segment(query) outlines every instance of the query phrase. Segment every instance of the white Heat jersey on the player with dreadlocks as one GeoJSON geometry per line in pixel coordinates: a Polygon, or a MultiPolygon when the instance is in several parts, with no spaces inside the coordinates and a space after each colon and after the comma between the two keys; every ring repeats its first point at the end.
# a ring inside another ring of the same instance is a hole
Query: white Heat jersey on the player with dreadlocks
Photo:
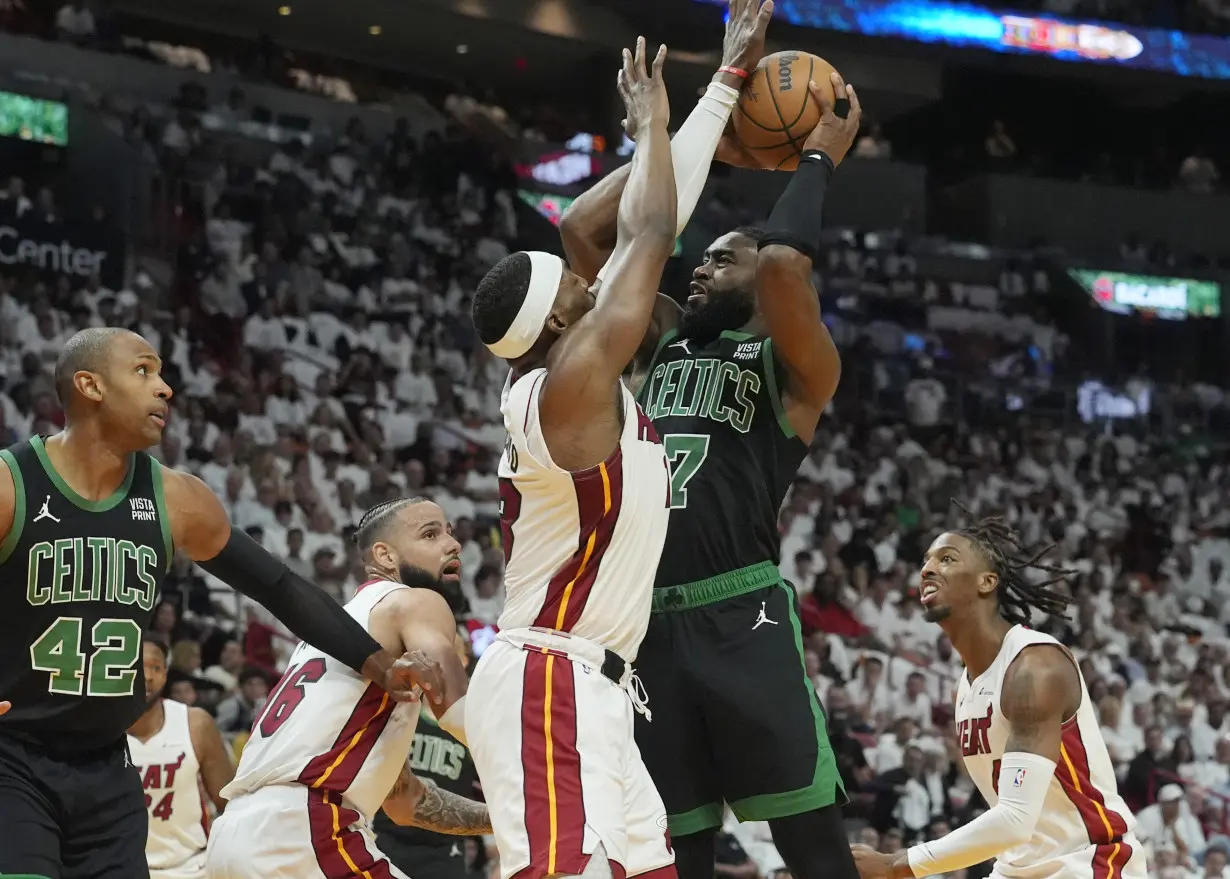
{"type": "MultiPolygon", "coordinates": [[[[990,668],[973,681],[963,674],[957,687],[957,740],[970,778],[990,805],[999,802],[999,766],[1010,733],[1000,709],[1004,675],[1031,644],[1060,647],[1048,634],[1016,626],[1004,638],[990,668]]],[[[1114,767],[1082,677],[1080,708],[1064,724],[1059,763],[1033,836],[1004,852],[993,875],[1143,877],[1145,858],[1130,836],[1134,827],[1135,818],[1119,797],[1114,767]]]]}

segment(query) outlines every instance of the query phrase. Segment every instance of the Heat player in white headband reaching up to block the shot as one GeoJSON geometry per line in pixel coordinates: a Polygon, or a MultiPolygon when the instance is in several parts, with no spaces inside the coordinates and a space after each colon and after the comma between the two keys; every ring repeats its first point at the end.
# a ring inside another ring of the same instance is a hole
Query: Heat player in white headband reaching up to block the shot
{"type": "MultiPolygon", "coordinates": [[[[464,741],[504,879],[674,877],[665,809],[632,738],[647,709],[631,669],[669,514],[667,460],[620,381],[675,242],[664,61],[665,47],[649,66],[643,38],[635,58],[624,52],[619,89],[640,138],[603,289],[535,252],[506,257],[474,296],[480,338],[510,366],[507,601],[464,741]]],[[[440,722],[451,731],[456,717],[440,722]]]]}

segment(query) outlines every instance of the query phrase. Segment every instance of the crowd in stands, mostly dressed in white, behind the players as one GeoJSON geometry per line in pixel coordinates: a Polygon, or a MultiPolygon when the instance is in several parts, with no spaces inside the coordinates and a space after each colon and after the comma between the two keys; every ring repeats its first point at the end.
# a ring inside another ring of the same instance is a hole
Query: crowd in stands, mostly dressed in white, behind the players
{"type": "MultiPolygon", "coordinates": [[[[64,9],[64,38],[96,27],[87,7],[64,9]]],[[[1213,0],[1198,9],[1221,15],[1213,0]]],[[[97,275],[74,288],[0,268],[0,440],[63,425],[49,370],[69,334],[132,327],[176,390],[159,459],[196,472],[239,526],[339,601],[365,579],[351,540],[365,509],[407,494],[440,504],[464,547],[462,629],[481,652],[503,604],[506,370],[469,311],[525,221],[508,168],[459,129],[419,141],[358,122],[333,143],[226,152],[199,109],[242,116],[242,95],[164,109],[117,119],[191,183],[200,221],[184,221],[176,280],[137,272],[125,289],[97,275]]],[[[881,132],[868,140],[857,155],[888,155],[881,132]]],[[[50,191],[9,181],[0,218],[27,210],[54,213],[50,191]]],[[[824,311],[854,357],[781,513],[781,567],[854,832],[893,851],[985,808],[956,749],[959,661],[915,600],[924,548],[963,515],[956,498],[1002,511],[1027,543],[1054,543],[1050,561],[1074,572],[1069,616],[1034,625],[1080,659],[1151,875],[1230,877],[1230,456],[1202,433],[1223,392],[1137,376],[1125,395],[1168,397],[1172,417],[1143,406],[1108,422],[1075,400],[1041,417],[1028,401],[1053,388],[1070,347],[1044,267],[1007,262],[984,284],[957,283],[910,247],[831,234],[824,311]],[[937,369],[975,364],[982,385],[937,369]]],[[[214,712],[241,749],[293,648],[287,632],[182,554],[153,631],[171,648],[170,697],[214,712]]],[[[722,877],[784,870],[766,825],[727,831],[722,877]]]]}

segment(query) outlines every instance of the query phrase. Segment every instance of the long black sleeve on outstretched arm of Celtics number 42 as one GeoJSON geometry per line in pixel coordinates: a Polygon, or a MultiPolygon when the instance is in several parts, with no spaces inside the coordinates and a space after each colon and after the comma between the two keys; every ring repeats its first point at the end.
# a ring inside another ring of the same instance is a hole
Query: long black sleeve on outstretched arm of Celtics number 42
{"type": "Polygon", "coordinates": [[[299,577],[235,526],[223,551],[199,564],[260,601],[296,637],[359,674],[368,658],[381,650],[375,638],[323,589],[299,577]]]}

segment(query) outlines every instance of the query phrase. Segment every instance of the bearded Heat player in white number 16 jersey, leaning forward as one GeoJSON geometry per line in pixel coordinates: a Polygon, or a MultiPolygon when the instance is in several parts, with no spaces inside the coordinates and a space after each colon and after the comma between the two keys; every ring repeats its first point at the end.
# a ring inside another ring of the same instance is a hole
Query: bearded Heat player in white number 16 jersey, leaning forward
{"type": "MultiPolygon", "coordinates": [[[[380,504],[359,521],[355,542],[370,579],[344,612],[385,650],[435,658],[446,713],[467,681],[445,599],[459,584],[461,546],[444,511],[426,498],[380,504]]],[[[371,819],[381,806],[399,824],[490,834],[485,805],[410,771],[418,711],[300,644],[223,790],[207,877],[406,879],[376,846],[371,819]]]]}

